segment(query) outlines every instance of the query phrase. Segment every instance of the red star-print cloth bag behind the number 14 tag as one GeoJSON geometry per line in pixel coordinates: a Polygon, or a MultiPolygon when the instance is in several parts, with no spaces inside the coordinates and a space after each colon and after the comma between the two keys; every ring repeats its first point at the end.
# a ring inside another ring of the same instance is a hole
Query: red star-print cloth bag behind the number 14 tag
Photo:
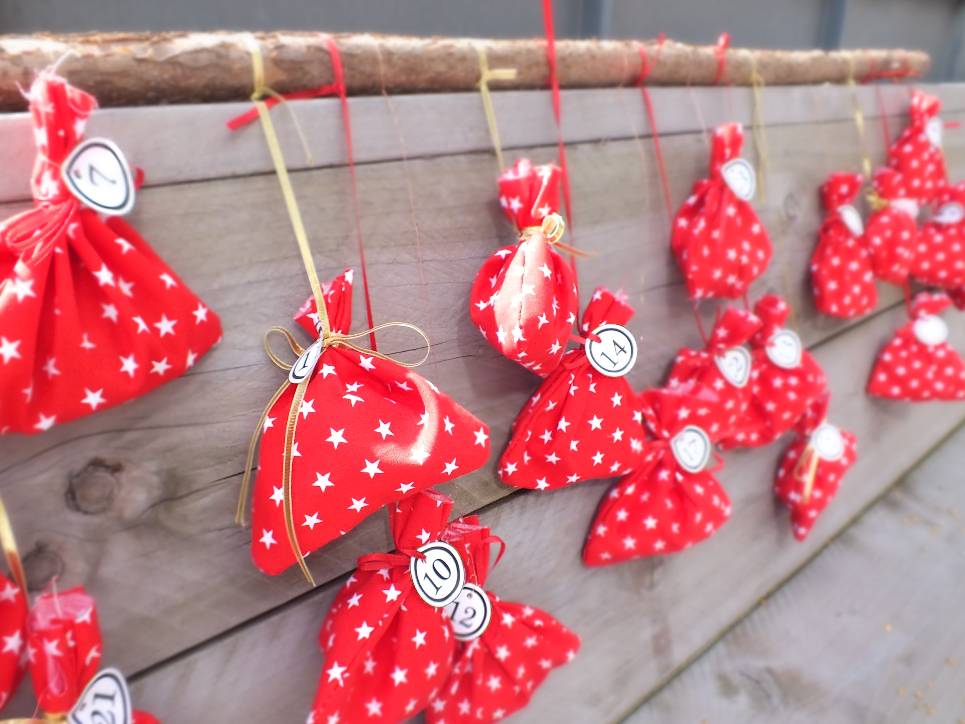
{"type": "MultiPolygon", "coordinates": [[[[632,316],[622,298],[598,287],[583,313],[582,329],[593,335],[632,316]]],[[[603,375],[586,348],[570,349],[513,423],[499,477],[510,486],[545,490],[625,475],[643,462],[646,447],[626,377],[603,375]]]]}

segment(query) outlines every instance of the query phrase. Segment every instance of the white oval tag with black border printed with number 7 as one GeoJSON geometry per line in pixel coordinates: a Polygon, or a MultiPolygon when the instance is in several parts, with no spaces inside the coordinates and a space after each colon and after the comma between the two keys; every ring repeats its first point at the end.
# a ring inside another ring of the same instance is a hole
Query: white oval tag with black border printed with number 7
{"type": "Polygon", "coordinates": [[[70,193],[91,209],[123,216],[134,208],[134,179],[124,153],[113,141],[91,138],[70,152],[61,164],[70,193]]]}

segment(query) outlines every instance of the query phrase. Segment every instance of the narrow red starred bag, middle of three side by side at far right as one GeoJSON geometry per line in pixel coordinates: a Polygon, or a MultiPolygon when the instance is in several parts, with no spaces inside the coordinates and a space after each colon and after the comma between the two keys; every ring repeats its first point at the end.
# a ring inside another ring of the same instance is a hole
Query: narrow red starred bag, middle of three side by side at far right
{"type": "Polygon", "coordinates": [[[902,285],[915,258],[918,202],[908,180],[894,169],[875,169],[871,184],[882,205],[871,212],[865,226],[871,270],[883,282],[902,285]]]}

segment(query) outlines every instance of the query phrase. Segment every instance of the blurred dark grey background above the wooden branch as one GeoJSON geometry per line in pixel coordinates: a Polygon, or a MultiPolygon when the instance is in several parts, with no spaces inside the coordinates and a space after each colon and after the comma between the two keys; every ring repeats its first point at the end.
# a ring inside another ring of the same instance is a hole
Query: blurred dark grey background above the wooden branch
{"type": "MultiPolygon", "coordinates": [[[[554,0],[561,38],[655,38],[769,48],[907,47],[929,78],[965,78],[965,0],[554,0]]],[[[540,0],[0,0],[0,33],[327,30],[541,36],[540,0]]]]}

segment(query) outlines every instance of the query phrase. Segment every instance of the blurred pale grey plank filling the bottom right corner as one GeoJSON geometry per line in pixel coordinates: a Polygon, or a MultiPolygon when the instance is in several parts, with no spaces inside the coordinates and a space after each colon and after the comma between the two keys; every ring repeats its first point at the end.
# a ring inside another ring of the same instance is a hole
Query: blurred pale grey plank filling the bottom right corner
{"type": "Polygon", "coordinates": [[[626,719],[957,721],[965,429],[626,719]]]}

